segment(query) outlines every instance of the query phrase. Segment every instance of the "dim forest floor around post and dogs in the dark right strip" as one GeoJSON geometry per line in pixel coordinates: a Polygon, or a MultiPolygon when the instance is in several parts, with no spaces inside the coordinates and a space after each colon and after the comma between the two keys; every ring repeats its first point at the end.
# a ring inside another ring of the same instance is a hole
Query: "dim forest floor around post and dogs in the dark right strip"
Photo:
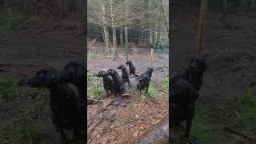
{"type": "MultiPolygon", "coordinates": [[[[171,76],[190,62],[198,36],[198,15],[177,12],[172,18],[171,76]]],[[[213,12],[206,17],[202,56],[209,69],[198,98],[191,141],[255,143],[256,87],[249,84],[256,79],[256,15],[228,14],[226,22],[220,18],[213,12]]],[[[172,143],[185,143],[178,139],[182,134],[181,129],[172,128],[172,143]]]]}

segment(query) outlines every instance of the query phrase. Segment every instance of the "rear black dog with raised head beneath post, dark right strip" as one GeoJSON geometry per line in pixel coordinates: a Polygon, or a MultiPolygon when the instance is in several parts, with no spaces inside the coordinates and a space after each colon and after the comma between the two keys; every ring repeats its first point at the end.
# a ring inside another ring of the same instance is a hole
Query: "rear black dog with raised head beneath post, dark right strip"
{"type": "Polygon", "coordinates": [[[174,83],[179,78],[185,79],[190,82],[197,90],[200,90],[202,86],[203,74],[207,69],[206,61],[202,58],[193,58],[190,62],[190,67],[186,69],[182,74],[170,79],[170,86],[174,86],[174,83]]]}

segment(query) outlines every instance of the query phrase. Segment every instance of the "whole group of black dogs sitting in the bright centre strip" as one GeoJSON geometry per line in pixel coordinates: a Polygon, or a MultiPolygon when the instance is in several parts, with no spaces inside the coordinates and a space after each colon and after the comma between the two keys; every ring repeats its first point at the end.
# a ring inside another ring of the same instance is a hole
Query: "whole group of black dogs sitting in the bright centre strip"
{"type": "Polygon", "coordinates": [[[150,78],[153,73],[153,68],[147,68],[146,72],[138,75],[135,74],[135,66],[131,61],[127,61],[126,65],[122,64],[117,67],[118,70],[122,70],[122,76],[120,76],[114,68],[111,68],[107,71],[99,71],[96,76],[103,78],[104,89],[106,90],[106,94],[109,94],[110,90],[114,95],[117,96],[119,94],[119,98],[121,98],[122,93],[125,91],[125,84],[128,83],[130,86],[129,75],[134,75],[137,81],[137,89],[142,93],[142,90],[146,89],[146,93],[150,86],[150,78]],[[129,72],[126,69],[126,65],[129,66],[129,72]]]}

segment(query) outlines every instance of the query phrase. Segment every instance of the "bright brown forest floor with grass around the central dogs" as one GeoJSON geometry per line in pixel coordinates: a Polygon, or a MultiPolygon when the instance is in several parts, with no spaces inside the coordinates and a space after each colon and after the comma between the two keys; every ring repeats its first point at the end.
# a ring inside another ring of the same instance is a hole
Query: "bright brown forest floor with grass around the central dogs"
{"type": "MultiPolygon", "coordinates": [[[[94,51],[94,50],[92,50],[94,51]]],[[[89,53],[87,74],[87,96],[97,102],[87,106],[87,141],[88,143],[130,143],[143,134],[150,126],[158,123],[169,113],[169,56],[154,54],[154,72],[148,94],[136,90],[135,78],[126,84],[125,98],[127,105],[111,105],[117,98],[109,97],[103,89],[102,78],[94,77],[98,71],[107,71],[125,63],[125,51],[118,52],[118,60],[110,55],[89,53]]],[[[142,74],[150,66],[150,50],[141,50],[129,54],[136,73],[142,74]]],[[[126,67],[128,69],[128,67],[126,67]]],[[[117,69],[116,69],[117,70],[117,69]]],[[[122,71],[118,70],[119,75],[122,71]]]]}

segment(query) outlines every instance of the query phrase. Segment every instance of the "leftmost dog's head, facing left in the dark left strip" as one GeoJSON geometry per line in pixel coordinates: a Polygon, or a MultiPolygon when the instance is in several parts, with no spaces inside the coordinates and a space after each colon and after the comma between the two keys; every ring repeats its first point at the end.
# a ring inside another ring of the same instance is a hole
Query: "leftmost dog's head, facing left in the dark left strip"
{"type": "Polygon", "coordinates": [[[27,84],[30,87],[48,87],[58,82],[58,71],[52,68],[42,69],[34,78],[30,78],[27,84]]]}

